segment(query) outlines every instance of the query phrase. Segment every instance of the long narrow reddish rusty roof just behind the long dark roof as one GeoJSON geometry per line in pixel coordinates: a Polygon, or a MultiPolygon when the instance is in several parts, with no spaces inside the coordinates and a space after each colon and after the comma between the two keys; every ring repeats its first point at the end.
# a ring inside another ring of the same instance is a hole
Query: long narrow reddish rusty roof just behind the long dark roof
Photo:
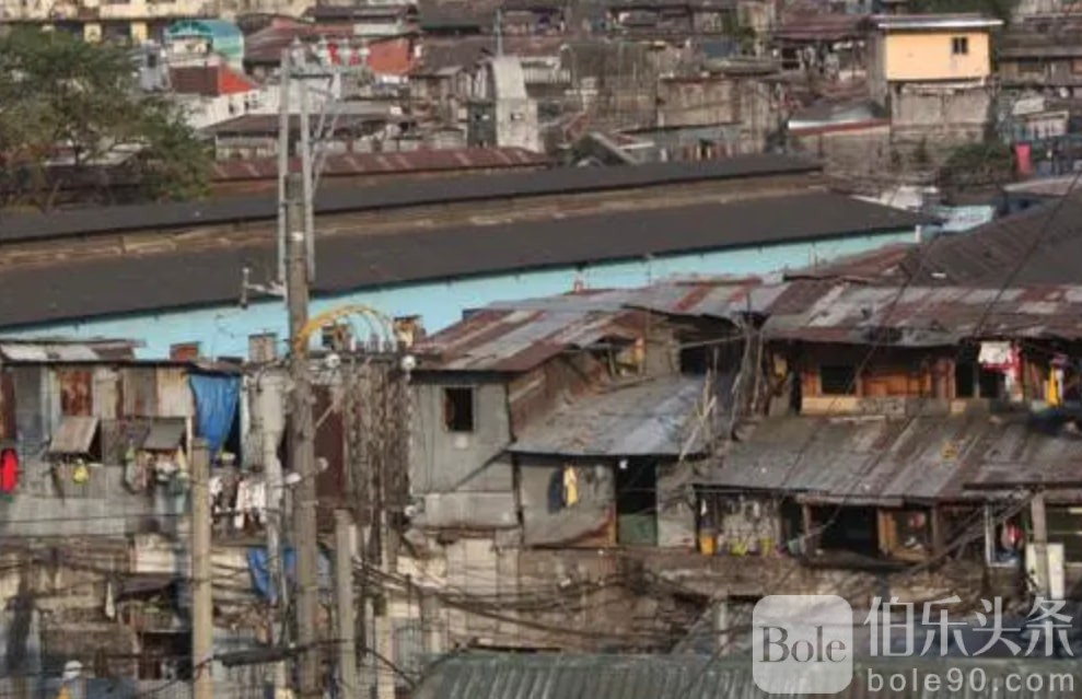
{"type": "MultiPolygon", "coordinates": [[[[395,175],[455,170],[540,167],[550,162],[547,156],[523,148],[462,148],[328,155],[322,172],[328,177],[395,175]]],[[[300,160],[293,159],[290,166],[294,171],[300,171],[300,160]]],[[[211,177],[216,182],[277,179],[278,159],[219,161],[211,170],[211,177]]]]}

